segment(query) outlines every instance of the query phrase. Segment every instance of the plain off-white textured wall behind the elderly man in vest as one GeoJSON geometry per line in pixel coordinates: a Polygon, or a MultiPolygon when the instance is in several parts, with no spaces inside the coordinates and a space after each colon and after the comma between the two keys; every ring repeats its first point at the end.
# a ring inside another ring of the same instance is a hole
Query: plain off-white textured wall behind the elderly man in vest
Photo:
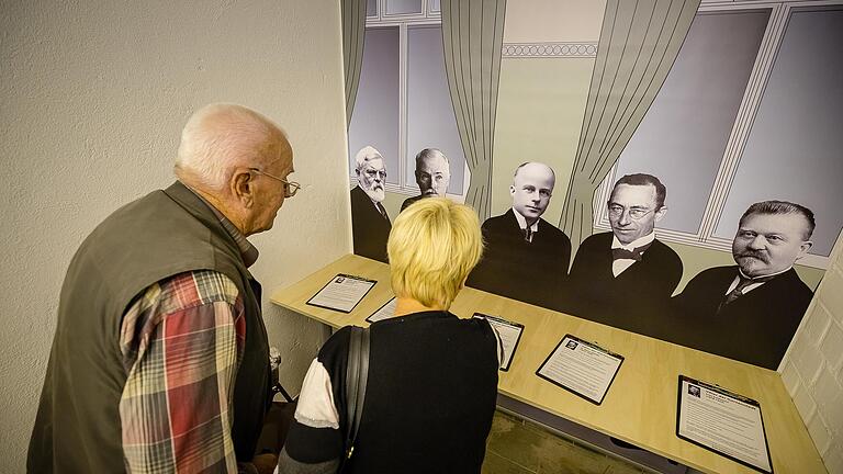
{"type": "Polygon", "coordinates": [[[0,0],[0,473],[23,472],[70,257],[172,181],[179,132],[209,102],[281,124],[311,184],[252,238],[297,392],[323,332],[267,297],[350,249],[338,2],[0,0]]]}

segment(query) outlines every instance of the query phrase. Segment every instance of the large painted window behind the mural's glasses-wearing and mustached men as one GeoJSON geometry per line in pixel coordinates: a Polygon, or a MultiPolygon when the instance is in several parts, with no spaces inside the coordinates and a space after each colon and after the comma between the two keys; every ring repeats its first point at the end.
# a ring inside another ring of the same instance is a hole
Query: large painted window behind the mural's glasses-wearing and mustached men
{"type": "Polygon", "coordinates": [[[609,228],[615,181],[648,172],[667,188],[663,240],[728,250],[750,204],[793,201],[817,217],[811,255],[800,263],[824,268],[843,226],[840,50],[843,5],[704,3],[596,193],[595,225],[609,228]]]}

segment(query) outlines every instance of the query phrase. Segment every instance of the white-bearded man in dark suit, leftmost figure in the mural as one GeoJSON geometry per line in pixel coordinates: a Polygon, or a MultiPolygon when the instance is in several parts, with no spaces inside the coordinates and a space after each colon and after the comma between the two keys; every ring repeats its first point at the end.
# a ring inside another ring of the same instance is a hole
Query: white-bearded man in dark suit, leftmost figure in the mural
{"type": "Polygon", "coordinates": [[[355,156],[358,185],[351,190],[351,230],[355,253],[386,262],[390,216],[383,207],[386,163],[380,151],[364,146],[355,156]]]}

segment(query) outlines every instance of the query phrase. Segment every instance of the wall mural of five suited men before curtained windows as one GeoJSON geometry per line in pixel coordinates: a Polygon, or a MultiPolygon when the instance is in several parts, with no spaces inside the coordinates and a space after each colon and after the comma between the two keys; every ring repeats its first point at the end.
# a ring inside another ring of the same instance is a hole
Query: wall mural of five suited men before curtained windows
{"type": "Polygon", "coordinates": [[[454,3],[344,18],[355,252],[448,196],[468,286],[776,369],[843,226],[843,0],[454,3]]]}

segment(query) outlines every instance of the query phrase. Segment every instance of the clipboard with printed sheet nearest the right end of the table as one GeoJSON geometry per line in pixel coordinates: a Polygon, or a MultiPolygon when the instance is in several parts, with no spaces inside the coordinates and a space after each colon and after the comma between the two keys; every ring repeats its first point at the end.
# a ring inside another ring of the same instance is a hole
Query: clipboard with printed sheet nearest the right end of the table
{"type": "Polygon", "coordinates": [[[679,375],[676,436],[745,466],[773,473],[761,405],[679,375]]]}

